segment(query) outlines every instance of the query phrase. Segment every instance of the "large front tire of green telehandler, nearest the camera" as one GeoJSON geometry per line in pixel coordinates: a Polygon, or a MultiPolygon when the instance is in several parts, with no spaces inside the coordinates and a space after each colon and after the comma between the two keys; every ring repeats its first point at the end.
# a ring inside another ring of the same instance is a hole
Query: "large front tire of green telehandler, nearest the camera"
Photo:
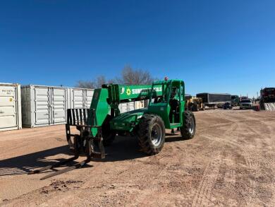
{"type": "Polygon", "coordinates": [[[165,126],[161,117],[145,114],[139,124],[138,143],[147,155],[155,155],[161,151],[165,142],[165,126]]]}

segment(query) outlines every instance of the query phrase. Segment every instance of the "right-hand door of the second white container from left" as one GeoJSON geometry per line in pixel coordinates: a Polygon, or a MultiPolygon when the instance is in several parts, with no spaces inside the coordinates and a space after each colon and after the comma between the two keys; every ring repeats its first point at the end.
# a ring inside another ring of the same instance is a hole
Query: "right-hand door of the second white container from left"
{"type": "Polygon", "coordinates": [[[52,89],[52,114],[53,124],[66,122],[66,88],[53,88],[52,89]]]}

